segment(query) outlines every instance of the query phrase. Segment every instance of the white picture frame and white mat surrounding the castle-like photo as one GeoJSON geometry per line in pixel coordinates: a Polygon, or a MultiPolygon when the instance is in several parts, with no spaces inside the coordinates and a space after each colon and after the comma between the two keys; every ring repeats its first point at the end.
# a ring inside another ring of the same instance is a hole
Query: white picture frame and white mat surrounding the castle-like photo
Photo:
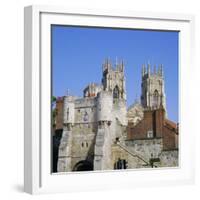
{"type": "Polygon", "coordinates": [[[191,15],[56,6],[25,8],[24,190],[31,194],[185,184],[194,181],[194,134],[189,94],[194,54],[191,15]],[[123,172],[51,173],[50,25],[176,30],[179,38],[180,167],[123,172]],[[190,67],[189,67],[190,66],[190,67]],[[187,93],[187,95],[186,95],[187,93]],[[189,134],[188,134],[189,133],[189,134]]]}

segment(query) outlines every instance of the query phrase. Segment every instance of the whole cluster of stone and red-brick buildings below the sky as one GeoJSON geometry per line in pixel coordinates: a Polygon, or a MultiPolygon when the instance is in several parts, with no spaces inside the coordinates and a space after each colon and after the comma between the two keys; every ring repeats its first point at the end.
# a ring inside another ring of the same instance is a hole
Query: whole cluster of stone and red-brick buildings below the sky
{"type": "MultiPolygon", "coordinates": [[[[166,119],[163,67],[142,67],[141,103],[126,107],[123,61],[106,59],[102,83],[57,99],[62,130],[54,172],[178,166],[178,128],[166,119]]],[[[56,135],[56,131],[55,131],[56,135]]]]}

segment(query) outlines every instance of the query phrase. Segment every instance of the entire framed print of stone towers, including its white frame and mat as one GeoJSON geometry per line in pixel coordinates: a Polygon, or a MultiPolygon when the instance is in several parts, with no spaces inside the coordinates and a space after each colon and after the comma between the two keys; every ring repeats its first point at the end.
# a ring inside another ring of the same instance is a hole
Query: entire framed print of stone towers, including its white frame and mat
{"type": "Polygon", "coordinates": [[[193,23],[25,8],[26,192],[193,182],[193,23]]]}

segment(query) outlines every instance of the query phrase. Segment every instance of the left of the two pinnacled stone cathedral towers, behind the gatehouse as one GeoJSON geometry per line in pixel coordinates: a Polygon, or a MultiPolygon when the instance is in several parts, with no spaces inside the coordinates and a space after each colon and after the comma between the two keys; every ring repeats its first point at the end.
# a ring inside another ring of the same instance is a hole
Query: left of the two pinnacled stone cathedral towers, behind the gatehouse
{"type": "Polygon", "coordinates": [[[115,68],[112,67],[110,60],[106,59],[103,64],[103,90],[113,93],[113,99],[126,100],[124,63],[117,62],[115,68]]]}

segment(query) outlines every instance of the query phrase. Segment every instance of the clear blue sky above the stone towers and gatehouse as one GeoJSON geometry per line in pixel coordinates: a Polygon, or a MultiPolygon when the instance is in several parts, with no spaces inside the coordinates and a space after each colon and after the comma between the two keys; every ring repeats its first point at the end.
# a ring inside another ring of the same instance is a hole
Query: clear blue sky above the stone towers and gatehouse
{"type": "Polygon", "coordinates": [[[168,118],[178,122],[178,32],[52,26],[53,95],[101,83],[107,57],[125,62],[127,106],[141,95],[142,64],[163,64],[168,118]]]}

